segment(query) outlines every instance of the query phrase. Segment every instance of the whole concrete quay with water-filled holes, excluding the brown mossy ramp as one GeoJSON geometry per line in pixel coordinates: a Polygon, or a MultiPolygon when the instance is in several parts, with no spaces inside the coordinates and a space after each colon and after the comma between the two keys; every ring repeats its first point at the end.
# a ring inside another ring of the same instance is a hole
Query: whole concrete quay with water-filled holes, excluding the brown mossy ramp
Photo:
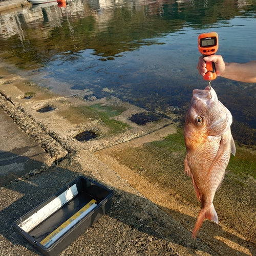
{"type": "Polygon", "coordinates": [[[136,138],[146,134],[174,132],[172,120],[161,118],[137,125],[129,116],[142,110],[133,105],[101,99],[93,103],[93,109],[92,102],[53,95],[3,66],[0,73],[1,255],[40,255],[12,224],[80,175],[114,190],[112,208],[61,255],[217,255],[202,241],[191,239],[191,232],[181,223],[92,154],[124,141],[134,139],[136,143],[136,138]],[[34,91],[35,96],[24,99],[28,91],[34,91]],[[126,121],[127,125],[114,133],[112,119],[98,114],[102,112],[99,104],[107,104],[106,112],[115,116],[117,102],[123,105],[119,115],[112,117],[116,118],[114,124],[126,121]],[[56,108],[46,113],[36,111],[46,105],[56,108]],[[93,110],[87,114],[97,113],[101,119],[93,119],[91,114],[90,119],[81,119],[81,108],[93,110]],[[95,130],[97,126],[98,140],[79,142],[74,138],[79,130],[95,130]]]}

